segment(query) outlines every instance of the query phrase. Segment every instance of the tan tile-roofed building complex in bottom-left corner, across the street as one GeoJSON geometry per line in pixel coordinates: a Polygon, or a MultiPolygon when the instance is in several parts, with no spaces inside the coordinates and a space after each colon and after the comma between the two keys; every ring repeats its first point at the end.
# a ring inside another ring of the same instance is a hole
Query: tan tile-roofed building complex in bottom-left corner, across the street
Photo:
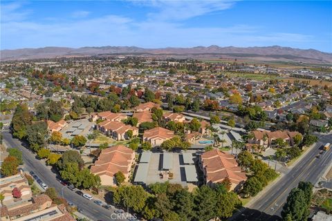
{"type": "Polygon", "coordinates": [[[53,204],[46,194],[32,195],[28,181],[23,173],[3,177],[0,179],[1,194],[4,195],[0,207],[1,221],[74,221],[75,219],[66,211],[64,204],[53,204]],[[20,198],[14,198],[13,189],[21,192],[20,198]],[[51,214],[51,215],[50,215],[51,214]]]}

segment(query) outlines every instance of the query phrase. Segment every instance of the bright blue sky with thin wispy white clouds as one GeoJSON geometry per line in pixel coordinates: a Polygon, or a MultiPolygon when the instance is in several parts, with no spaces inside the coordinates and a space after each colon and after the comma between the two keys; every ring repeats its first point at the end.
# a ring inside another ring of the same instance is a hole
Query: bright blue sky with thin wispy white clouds
{"type": "Polygon", "coordinates": [[[332,52],[332,1],[1,1],[1,49],[210,45],[332,52]]]}

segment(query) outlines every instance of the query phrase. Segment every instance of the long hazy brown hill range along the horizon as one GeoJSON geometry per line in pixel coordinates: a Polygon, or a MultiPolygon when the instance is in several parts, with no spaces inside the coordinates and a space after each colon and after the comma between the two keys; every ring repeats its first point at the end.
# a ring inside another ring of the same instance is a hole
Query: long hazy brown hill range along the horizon
{"type": "Polygon", "coordinates": [[[222,57],[229,59],[253,59],[259,61],[304,61],[312,63],[332,63],[332,53],[314,49],[297,49],[281,46],[269,47],[219,47],[197,46],[194,48],[138,48],[127,46],[103,46],[84,48],[22,48],[1,50],[1,60],[41,59],[53,57],[84,57],[91,55],[167,55],[180,57],[222,57]]]}

